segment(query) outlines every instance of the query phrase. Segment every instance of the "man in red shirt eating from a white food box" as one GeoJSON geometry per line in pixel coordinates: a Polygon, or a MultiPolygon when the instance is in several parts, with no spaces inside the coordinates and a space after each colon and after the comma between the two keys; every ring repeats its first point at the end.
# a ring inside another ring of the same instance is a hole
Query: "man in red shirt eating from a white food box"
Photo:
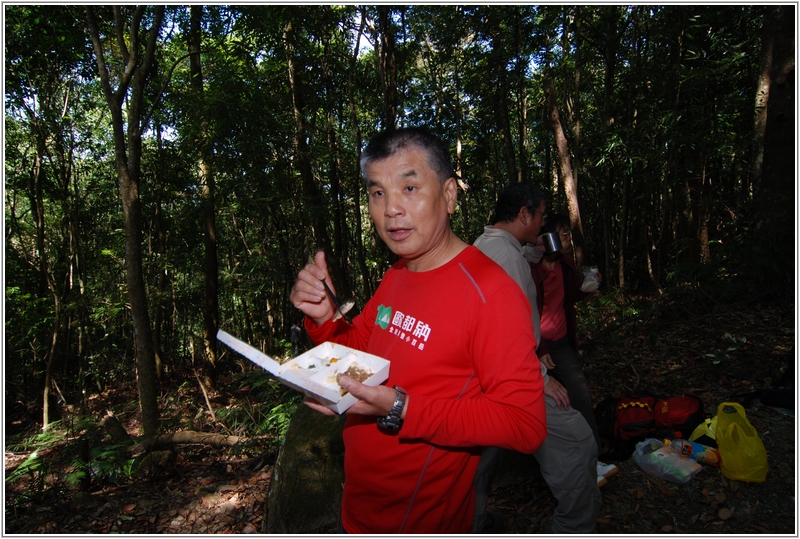
{"type": "Polygon", "coordinates": [[[343,434],[341,525],[348,533],[469,533],[481,446],[532,453],[546,435],[530,304],[450,228],[457,186],[441,140],[418,128],[381,133],[361,170],[375,229],[402,258],[352,324],[332,320],[322,252],[290,295],[315,343],[391,362],[386,385],[339,376],[360,399],[343,434]]]}

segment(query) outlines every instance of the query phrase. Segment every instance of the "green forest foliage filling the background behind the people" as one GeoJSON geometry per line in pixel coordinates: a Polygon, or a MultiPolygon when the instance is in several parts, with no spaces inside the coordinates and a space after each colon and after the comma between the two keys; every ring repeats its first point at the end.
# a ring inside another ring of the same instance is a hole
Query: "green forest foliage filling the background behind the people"
{"type": "MultiPolygon", "coordinates": [[[[542,105],[542,76],[552,74],[578,178],[584,257],[601,266],[609,291],[581,317],[587,331],[656,316],[624,295],[637,290],[723,300],[792,289],[791,253],[769,234],[748,244],[759,230],[753,205],[760,195],[750,179],[759,6],[387,11],[384,28],[375,6],[203,6],[200,94],[191,90],[186,57],[189,10],[166,9],[169,31],[144,103],[139,197],[150,322],[170,372],[191,370],[202,342],[206,198],[197,163],[205,134],[216,188],[220,327],[288,355],[289,328],[302,320],[288,296],[305,254],[320,246],[341,266],[337,288],[359,305],[368,299],[393,259],[370,226],[357,157],[386,127],[382,81],[392,66],[396,124],[439,134],[469,186],[452,217],[468,242],[512,179],[537,183],[549,208],[565,210],[542,105]],[[393,58],[383,56],[384,43],[393,44],[393,58]],[[620,261],[625,289],[617,294],[620,261]]],[[[97,13],[101,22],[113,19],[111,8],[97,13]]],[[[131,8],[120,13],[127,18],[131,8]]],[[[84,391],[134,380],[125,216],[85,15],[84,6],[6,7],[6,392],[13,402],[42,394],[54,335],[53,374],[70,404],[84,391]]],[[[229,432],[279,436],[297,395],[246,378],[242,387],[258,396],[215,413],[229,432]]],[[[168,424],[191,420],[175,414],[168,424]]]]}

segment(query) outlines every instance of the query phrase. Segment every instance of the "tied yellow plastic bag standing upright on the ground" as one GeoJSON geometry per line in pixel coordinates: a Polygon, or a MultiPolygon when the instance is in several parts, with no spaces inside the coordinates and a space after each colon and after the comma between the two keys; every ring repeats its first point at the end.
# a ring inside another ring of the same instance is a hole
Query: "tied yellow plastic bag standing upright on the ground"
{"type": "Polygon", "coordinates": [[[767,479],[767,450],[741,404],[719,405],[715,431],[725,477],[755,483],[767,479]]]}

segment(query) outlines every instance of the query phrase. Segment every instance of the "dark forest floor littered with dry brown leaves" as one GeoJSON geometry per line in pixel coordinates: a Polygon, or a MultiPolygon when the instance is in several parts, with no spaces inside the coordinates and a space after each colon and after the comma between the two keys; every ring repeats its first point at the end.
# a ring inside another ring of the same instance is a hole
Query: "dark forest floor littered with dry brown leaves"
{"type": "MultiPolygon", "coordinates": [[[[647,305],[646,298],[641,305],[647,305]]],[[[582,337],[595,403],[620,393],[694,394],[712,416],[721,402],[741,401],[742,395],[772,387],[786,371],[795,342],[793,304],[720,305],[709,300],[624,312],[589,309],[581,315],[606,318],[598,319],[582,337]]],[[[135,387],[104,395],[94,404],[96,410],[113,406],[111,399],[135,405],[135,387]]],[[[632,459],[615,461],[620,471],[601,489],[598,533],[796,534],[794,414],[757,404],[751,403],[746,412],[767,449],[766,482],[731,481],[719,468],[704,466],[691,481],[677,484],[646,474],[632,459]]],[[[136,413],[132,411],[124,424],[135,435],[136,413]]],[[[58,462],[63,449],[55,446],[45,458],[58,462]]],[[[176,450],[174,462],[161,473],[118,484],[103,482],[90,492],[78,492],[61,481],[50,485],[57,488],[28,499],[21,494],[33,489],[32,477],[6,482],[4,532],[262,532],[274,451],[242,454],[203,445],[176,450]]],[[[6,452],[6,476],[26,457],[25,452],[6,452]]],[[[488,509],[501,517],[498,533],[533,534],[547,533],[555,506],[541,476],[533,474],[495,486],[488,509]]]]}

